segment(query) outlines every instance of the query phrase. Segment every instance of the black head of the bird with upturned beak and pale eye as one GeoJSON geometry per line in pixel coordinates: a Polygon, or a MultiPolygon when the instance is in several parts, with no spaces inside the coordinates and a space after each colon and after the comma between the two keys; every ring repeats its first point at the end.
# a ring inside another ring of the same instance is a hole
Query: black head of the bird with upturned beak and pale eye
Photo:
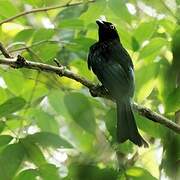
{"type": "Polygon", "coordinates": [[[96,20],[96,23],[99,26],[99,41],[103,42],[103,41],[108,41],[108,40],[119,40],[119,35],[118,32],[116,30],[116,27],[107,21],[103,21],[103,20],[96,20]]]}

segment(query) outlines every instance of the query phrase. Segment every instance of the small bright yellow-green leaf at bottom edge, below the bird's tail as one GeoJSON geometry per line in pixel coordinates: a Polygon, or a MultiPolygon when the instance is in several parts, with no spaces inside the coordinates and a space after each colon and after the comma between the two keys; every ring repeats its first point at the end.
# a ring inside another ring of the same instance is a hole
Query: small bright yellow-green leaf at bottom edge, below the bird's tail
{"type": "Polygon", "coordinates": [[[140,167],[131,167],[126,170],[126,174],[133,180],[157,180],[147,170],[140,167]]]}

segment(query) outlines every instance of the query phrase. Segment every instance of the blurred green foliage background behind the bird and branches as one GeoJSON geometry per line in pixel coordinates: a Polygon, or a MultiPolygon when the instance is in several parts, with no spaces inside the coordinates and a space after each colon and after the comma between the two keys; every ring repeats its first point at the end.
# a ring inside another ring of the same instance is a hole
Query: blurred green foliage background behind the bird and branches
{"type": "MultiPolygon", "coordinates": [[[[56,58],[98,83],[86,61],[100,15],[116,25],[133,59],[134,100],[180,123],[179,0],[0,0],[0,41],[13,56],[52,65],[56,58]],[[64,7],[1,24],[56,5],[64,7]]],[[[180,136],[135,116],[149,148],[117,144],[113,102],[91,97],[81,84],[1,65],[0,179],[180,179],[180,136]]]]}

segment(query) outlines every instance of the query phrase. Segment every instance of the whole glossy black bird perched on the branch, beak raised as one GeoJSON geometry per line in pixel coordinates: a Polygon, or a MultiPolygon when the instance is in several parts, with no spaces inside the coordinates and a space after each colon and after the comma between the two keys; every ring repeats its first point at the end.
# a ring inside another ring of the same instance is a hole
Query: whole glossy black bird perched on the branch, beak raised
{"type": "Polygon", "coordinates": [[[123,48],[115,26],[97,20],[99,41],[90,47],[88,68],[117,104],[117,140],[123,143],[132,141],[138,146],[148,146],[139,134],[131,107],[134,94],[134,68],[131,57],[123,48]]]}

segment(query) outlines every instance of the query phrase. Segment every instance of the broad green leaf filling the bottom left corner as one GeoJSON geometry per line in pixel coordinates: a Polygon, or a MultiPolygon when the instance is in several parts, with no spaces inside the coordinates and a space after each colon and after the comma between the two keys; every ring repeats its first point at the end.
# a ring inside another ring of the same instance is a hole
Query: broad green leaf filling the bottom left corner
{"type": "Polygon", "coordinates": [[[0,154],[0,177],[10,180],[14,177],[25,155],[21,143],[8,145],[0,154]]]}

